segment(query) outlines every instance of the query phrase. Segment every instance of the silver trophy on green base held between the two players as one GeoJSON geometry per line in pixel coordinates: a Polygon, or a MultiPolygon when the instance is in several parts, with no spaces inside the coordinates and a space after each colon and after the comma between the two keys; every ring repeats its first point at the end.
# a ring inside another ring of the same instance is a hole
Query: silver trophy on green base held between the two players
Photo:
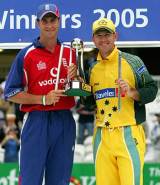
{"type": "Polygon", "coordinates": [[[76,63],[78,67],[78,76],[80,76],[80,78],[83,79],[83,82],[78,79],[75,79],[75,80],[67,79],[67,83],[65,86],[65,94],[68,96],[90,96],[92,89],[91,89],[91,86],[86,83],[85,74],[84,74],[83,41],[80,40],[79,38],[75,38],[71,42],[69,65],[71,65],[72,63],[73,48],[76,51],[76,63]],[[79,52],[80,52],[80,61],[79,61],[79,52]]]}

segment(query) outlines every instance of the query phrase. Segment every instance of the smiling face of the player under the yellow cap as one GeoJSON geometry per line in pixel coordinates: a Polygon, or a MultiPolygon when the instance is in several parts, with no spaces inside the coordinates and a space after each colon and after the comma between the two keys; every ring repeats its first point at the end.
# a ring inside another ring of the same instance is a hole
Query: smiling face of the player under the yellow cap
{"type": "Polygon", "coordinates": [[[99,49],[100,53],[107,55],[112,52],[116,39],[116,33],[108,33],[106,31],[100,31],[93,35],[95,46],[99,49]]]}

